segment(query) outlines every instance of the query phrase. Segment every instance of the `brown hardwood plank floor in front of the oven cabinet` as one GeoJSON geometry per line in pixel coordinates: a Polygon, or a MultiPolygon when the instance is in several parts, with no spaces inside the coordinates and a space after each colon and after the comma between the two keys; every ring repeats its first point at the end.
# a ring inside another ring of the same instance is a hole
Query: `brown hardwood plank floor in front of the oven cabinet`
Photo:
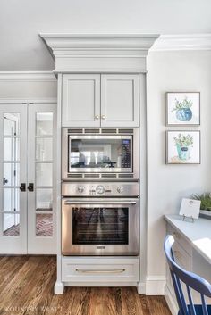
{"type": "Polygon", "coordinates": [[[55,257],[0,257],[0,315],[170,315],[163,296],[135,287],[68,287],[53,293],[55,257]]]}

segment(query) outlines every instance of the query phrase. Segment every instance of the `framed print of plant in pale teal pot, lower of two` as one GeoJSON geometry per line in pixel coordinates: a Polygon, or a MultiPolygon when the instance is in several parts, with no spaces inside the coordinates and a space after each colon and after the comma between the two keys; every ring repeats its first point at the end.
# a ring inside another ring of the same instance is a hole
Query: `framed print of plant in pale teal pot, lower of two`
{"type": "Polygon", "coordinates": [[[200,164],[200,131],[166,131],[167,164],[200,164]]]}

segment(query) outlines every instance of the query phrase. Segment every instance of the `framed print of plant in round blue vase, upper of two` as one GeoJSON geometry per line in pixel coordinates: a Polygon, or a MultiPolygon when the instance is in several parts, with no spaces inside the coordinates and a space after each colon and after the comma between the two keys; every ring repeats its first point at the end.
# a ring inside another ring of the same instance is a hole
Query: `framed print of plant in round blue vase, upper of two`
{"type": "Polygon", "coordinates": [[[165,93],[166,126],[200,125],[199,92],[165,93]]]}

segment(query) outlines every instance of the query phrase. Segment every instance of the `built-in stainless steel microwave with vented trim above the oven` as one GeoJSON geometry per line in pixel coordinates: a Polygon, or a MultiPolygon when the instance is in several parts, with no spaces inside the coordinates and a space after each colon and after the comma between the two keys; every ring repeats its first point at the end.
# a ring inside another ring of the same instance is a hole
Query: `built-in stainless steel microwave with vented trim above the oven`
{"type": "Polygon", "coordinates": [[[138,179],[139,129],[63,128],[62,178],[138,179]]]}

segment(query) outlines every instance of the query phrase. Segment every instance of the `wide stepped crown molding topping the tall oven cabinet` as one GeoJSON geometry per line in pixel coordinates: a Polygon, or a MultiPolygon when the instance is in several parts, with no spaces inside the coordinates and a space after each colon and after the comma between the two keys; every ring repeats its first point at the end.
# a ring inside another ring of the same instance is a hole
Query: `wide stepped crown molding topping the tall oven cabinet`
{"type": "Polygon", "coordinates": [[[55,72],[146,70],[158,35],[40,34],[55,57],[55,72]]]}

